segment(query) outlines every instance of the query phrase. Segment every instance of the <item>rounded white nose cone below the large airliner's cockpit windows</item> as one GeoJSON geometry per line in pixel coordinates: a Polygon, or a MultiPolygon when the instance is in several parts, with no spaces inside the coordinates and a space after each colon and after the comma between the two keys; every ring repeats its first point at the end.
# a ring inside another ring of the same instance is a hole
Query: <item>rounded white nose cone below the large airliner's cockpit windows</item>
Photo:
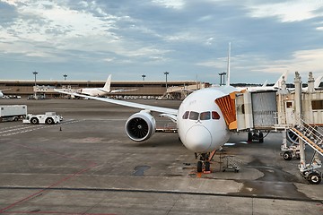
{"type": "Polygon", "coordinates": [[[203,125],[194,125],[188,129],[185,146],[194,152],[206,152],[212,143],[211,133],[203,125]]]}

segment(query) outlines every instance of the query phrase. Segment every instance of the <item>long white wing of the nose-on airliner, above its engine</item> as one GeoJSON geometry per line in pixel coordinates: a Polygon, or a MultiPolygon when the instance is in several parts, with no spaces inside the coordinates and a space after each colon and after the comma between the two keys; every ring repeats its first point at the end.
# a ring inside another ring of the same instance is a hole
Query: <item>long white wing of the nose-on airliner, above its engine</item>
{"type": "Polygon", "coordinates": [[[145,110],[151,110],[155,112],[160,112],[165,115],[163,116],[177,116],[178,114],[178,109],[172,109],[172,108],[167,108],[167,107],[156,107],[156,106],[150,106],[150,105],[144,105],[144,104],[139,104],[135,102],[129,102],[129,101],[124,101],[124,100],[115,100],[115,99],[108,99],[108,98],[100,98],[100,97],[92,97],[92,96],[86,96],[78,93],[73,93],[73,92],[67,92],[67,91],[62,91],[62,90],[56,90],[59,93],[71,95],[71,96],[77,96],[77,97],[83,97],[87,99],[93,99],[93,100],[100,100],[104,102],[109,102],[112,104],[116,105],[121,105],[121,106],[126,106],[126,107],[135,107],[139,109],[145,109],[145,110]]]}

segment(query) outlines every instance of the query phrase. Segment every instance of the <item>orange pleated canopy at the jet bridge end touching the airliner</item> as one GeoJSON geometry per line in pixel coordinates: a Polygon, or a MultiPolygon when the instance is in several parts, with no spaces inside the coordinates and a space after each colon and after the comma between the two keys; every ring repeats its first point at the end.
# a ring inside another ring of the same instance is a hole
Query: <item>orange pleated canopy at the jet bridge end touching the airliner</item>
{"type": "Polygon", "coordinates": [[[229,129],[237,129],[237,116],[235,110],[235,94],[231,92],[229,95],[219,99],[215,99],[215,103],[220,107],[225,123],[229,126],[229,129]]]}

